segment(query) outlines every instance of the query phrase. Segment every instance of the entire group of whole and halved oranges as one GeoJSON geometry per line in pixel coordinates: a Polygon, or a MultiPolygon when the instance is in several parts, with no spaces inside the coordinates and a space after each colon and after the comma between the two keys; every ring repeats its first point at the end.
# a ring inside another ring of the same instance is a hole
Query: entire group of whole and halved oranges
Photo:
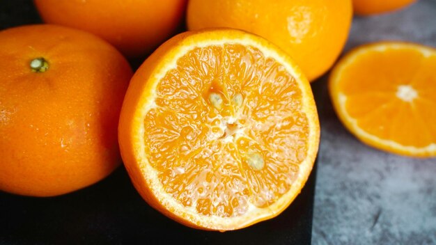
{"type": "MultiPolygon", "coordinates": [[[[412,1],[34,3],[49,24],[0,31],[0,189],[69,193],[121,155],[149,205],[224,231],[279,215],[304,187],[320,138],[309,81],[341,54],[352,6],[412,1]],[[125,57],[145,61],[133,74],[125,57]]],[[[356,49],[329,81],[338,116],[375,148],[435,156],[435,61],[420,45],[356,49]]]]}

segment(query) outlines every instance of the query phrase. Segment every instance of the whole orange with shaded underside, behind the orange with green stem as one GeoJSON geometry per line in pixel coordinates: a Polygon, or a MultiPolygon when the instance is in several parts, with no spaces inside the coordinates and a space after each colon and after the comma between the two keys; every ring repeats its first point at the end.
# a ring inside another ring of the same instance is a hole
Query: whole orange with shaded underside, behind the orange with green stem
{"type": "Polygon", "coordinates": [[[182,21],[186,0],[34,0],[47,23],[99,35],[126,56],[152,52],[182,21]]]}

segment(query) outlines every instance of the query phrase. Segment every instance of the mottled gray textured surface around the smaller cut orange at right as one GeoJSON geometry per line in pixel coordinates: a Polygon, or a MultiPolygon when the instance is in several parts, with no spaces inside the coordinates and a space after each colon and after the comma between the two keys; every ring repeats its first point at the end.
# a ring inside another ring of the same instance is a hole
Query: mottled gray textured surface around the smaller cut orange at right
{"type": "MultiPolygon", "coordinates": [[[[345,52],[377,40],[436,47],[436,1],[355,17],[345,52]]],[[[436,158],[400,157],[360,143],[336,118],[326,86],[327,76],[313,84],[322,141],[312,243],[436,244],[436,158]]]]}

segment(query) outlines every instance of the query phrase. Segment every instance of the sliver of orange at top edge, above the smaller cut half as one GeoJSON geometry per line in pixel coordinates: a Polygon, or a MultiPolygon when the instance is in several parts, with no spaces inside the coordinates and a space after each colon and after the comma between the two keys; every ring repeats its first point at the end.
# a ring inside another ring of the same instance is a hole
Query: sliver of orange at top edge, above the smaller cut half
{"type": "Polygon", "coordinates": [[[352,0],[358,15],[375,15],[404,8],[416,0],[352,0]]]}

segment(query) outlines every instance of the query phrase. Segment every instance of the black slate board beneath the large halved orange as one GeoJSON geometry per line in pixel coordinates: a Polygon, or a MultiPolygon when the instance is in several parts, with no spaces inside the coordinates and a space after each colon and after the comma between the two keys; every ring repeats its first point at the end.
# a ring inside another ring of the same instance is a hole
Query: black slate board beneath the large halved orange
{"type": "MultiPolygon", "coordinates": [[[[0,0],[0,30],[33,23],[40,19],[31,1],[0,0]]],[[[54,198],[0,192],[0,244],[311,244],[315,176],[314,169],[276,218],[221,233],[187,228],[153,210],[120,166],[98,184],[54,198]]]]}

